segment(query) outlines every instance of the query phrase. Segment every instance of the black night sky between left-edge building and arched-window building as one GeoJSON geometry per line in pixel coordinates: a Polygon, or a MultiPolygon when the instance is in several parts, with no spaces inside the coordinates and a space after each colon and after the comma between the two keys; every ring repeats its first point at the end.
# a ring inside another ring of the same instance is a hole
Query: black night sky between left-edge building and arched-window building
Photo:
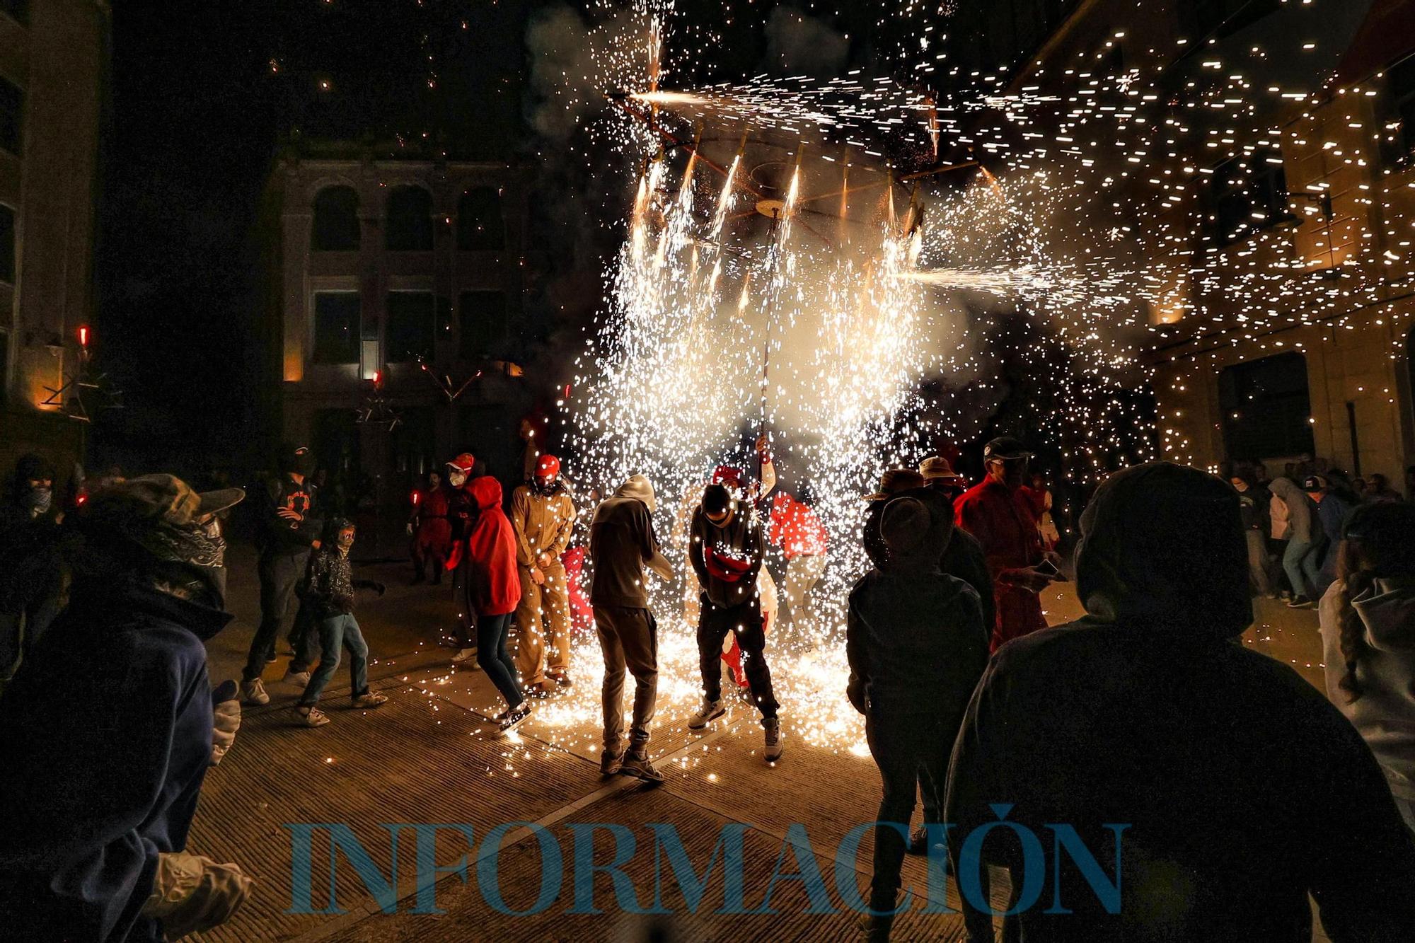
{"type": "Polygon", "coordinates": [[[127,409],[99,423],[96,457],[200,462],[243,438],[260,310],[253,225],[279,143],[427,132],[454,157],[512,157],[538,6],[115,4],[95,327],[127,409]]]}

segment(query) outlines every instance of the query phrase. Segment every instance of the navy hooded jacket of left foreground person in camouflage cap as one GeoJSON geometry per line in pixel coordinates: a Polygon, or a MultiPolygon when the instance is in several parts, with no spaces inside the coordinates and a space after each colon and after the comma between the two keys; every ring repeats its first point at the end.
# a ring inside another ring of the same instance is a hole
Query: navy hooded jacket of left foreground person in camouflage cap
{"type": "Polygon", "coordinates": [[[139,916],[211,763],[202,641],[231,616],[134,583],[75,589],[0,698],[0,926],[161,940],[139,916]]]}

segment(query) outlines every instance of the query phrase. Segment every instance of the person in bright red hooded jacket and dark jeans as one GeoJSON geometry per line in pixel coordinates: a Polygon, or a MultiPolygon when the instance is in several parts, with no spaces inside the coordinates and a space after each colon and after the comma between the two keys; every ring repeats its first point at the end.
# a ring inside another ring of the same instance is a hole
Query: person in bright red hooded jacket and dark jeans
{"type": "Polygon", "coordinates": [[[446,566],[456,569],[467,561],[467,598],[477,616],[477,664],[507,701],[507,711],[495,721],[509,732],[531,716],[531,704],[521,692],[516,668],[507,654],[507,629],[521,602],[516,534],[501,510],[501,481],[484,474],[468,481],[466,488],[477,508],[477,520],[467,538],[453,545],[446,566]]]}

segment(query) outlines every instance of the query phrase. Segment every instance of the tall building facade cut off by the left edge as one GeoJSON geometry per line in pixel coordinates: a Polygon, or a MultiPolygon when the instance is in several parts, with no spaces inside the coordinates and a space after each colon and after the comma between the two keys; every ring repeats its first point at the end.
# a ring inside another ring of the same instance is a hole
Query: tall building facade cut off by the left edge
{"type": "Polygon", "coordinates": [[[61,389],[93,310],[93,228],[109,7],[0,1],[0,464],[78,459],[61,389]]]}

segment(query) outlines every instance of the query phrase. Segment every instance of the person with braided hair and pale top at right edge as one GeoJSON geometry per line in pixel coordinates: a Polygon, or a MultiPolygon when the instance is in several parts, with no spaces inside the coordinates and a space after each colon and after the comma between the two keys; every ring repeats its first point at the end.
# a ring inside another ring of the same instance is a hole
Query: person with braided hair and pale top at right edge
{"type": "Polygon", "coordinates": [[[1367,504],[1341,531],[1322,598],[1332,702],[1356,725],[1415,831],[1415,504],[1367,504]]]}

